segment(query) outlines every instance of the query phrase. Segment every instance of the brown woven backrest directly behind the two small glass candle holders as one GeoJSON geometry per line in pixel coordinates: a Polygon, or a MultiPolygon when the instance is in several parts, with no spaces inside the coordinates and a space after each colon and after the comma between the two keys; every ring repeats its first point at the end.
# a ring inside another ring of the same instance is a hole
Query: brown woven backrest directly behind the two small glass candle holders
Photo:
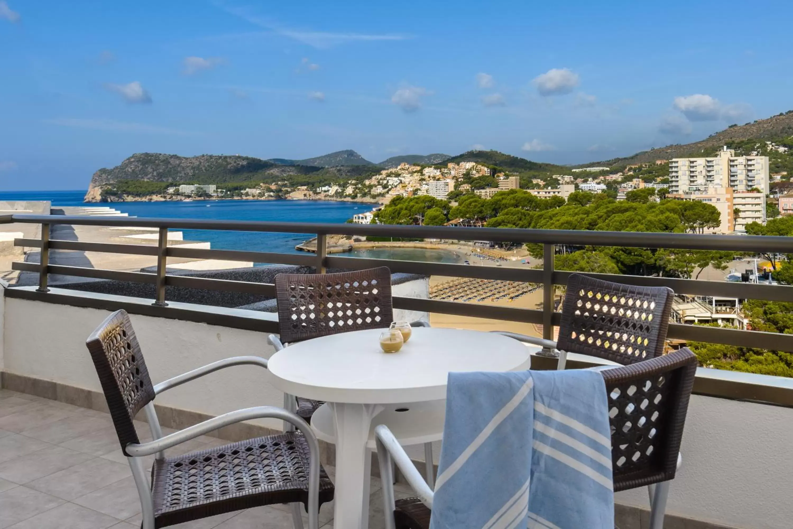
{"type": "Polygon", "coordinates": [[[278,274],[281,341],[363,329],[393,321],[391,270],[385,266],[339,274],[278,274]]]}

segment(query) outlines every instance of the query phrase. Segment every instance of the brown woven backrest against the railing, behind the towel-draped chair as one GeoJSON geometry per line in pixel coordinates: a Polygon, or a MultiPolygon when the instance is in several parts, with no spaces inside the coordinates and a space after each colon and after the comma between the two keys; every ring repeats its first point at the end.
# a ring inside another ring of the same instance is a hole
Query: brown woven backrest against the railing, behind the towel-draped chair
{"type": "Polygon", "coordinates": [[[672,289],[631,286],[573,274],[557,347],[627,365],[664,353],[672,289]]]}

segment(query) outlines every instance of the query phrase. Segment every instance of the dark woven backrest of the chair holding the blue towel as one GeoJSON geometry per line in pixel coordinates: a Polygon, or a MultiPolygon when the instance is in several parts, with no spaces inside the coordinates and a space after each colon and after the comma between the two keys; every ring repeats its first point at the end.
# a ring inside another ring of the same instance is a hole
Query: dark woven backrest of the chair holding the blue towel
{"type": "Polygon", "coordinates": [[[696,356],[684,348],[601,372],[615,491],[675,477],[696,366],[696,356]]]}

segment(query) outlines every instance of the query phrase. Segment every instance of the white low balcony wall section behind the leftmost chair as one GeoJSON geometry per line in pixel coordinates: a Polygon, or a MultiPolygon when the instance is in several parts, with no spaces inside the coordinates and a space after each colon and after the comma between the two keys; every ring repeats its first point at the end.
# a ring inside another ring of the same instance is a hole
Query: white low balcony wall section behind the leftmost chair
{"type": "MultiPolygon", "coordinates": [[[[151,303],[151,300],[147,300],[151,303]]],[[[86,338],[110,312],[6,298],[4,370],[102,391],[86,338]]],[[[239,311],[247,312],[247,311],[239,311]]],[[[266,315],[275,318],[274,314],[266,315]]],[[[230,356],[270,358],[267,335],[151,316],[130,316],[153,383],[230,356]]],[[[220,415],[238,408],[283,405],[283,394],[257,366],[235,366],[162,393],[157,404],[220,415]]],[[[278,428],[277,420],[261,424],[278,428]]]]}

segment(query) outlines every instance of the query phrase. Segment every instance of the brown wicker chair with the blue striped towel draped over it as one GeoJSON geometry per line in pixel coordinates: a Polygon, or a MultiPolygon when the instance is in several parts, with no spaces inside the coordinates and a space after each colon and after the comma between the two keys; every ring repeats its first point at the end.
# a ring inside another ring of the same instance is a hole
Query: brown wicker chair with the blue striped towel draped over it
{"type": "MultiPolygon", "coordinates": [[[[614,490],[655,485],[650,529],[661,529],[674,479],[680,441],[694,385],[697,359],[688,349],[629,366],[603,370],[611,417],[611,461],[614,490]]],[[[432,490],[412,467],[385,426],[378,426],[377,457],[383,476],[386,529],[430,527],[432,490]],[[396,462],[418,498],[394,500],[391,462],[396,462]]]]}

